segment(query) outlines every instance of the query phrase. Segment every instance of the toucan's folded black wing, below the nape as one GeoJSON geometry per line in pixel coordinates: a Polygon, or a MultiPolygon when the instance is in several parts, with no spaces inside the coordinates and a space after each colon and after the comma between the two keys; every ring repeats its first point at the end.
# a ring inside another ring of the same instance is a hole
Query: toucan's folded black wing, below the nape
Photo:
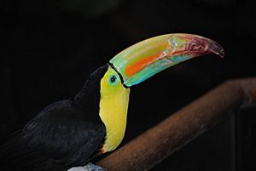
{"type": "Polygon", "coordinates": [[[11,154],[5,152],[5,155],[12,161],[10,163],[19,161],[33,170],[47,165],[53,168],[79,166],[100,150],[104,139],[105,128],[100,122],[87,120],[73,110],[69,100],[63,100],[49,105],[33,118],[9,142],[8,148],[17,150],[11,154]]]}

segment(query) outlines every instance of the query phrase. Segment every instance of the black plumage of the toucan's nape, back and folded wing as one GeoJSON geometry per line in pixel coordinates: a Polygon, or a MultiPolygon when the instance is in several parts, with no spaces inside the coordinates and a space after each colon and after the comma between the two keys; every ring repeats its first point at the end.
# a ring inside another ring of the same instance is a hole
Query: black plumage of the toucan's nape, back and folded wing
{"type": "Polygon", "coordinates": [[[0,170],[67,171],[83,166],[102,148],[100,82],[108,65],[94,71],[74,100],[55,102],[0,146],[0,170]]]}

